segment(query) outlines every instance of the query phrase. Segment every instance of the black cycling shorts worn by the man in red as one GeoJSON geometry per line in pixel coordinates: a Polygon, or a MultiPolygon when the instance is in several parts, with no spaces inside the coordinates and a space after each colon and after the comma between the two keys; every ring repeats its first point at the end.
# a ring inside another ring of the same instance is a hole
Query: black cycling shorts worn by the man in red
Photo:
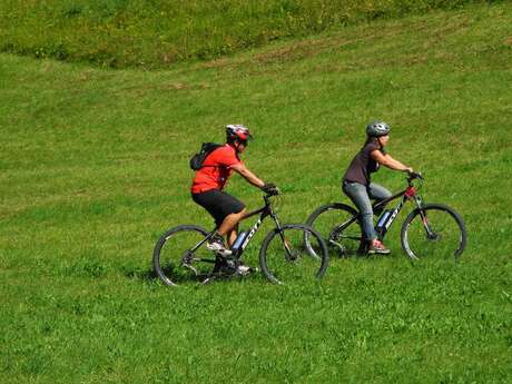
{"type": "Polygon", "coordinates": [[[214,217],[217,227],[224,221],[226,216],[238,214],[245,205],[236,197],[218,189],[210,189],[200,194],[193,194],[193,200],[214,217]]]}

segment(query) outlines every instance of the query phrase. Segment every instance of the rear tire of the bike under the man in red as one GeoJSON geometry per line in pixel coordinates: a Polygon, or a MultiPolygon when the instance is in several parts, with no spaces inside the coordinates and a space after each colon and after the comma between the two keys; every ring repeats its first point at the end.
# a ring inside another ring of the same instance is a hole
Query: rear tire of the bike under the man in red
{"type": "MultiPolygon", "coordinates": [[[[204,240],[207,235],[206,229],[196,225],[180,225],[167,230],[158,239],[152,253],[152,268],[158,278],[166,285],[177,286],[178,283],[189,278],[190,274],[196,274],[193,269],[186,268],[181,260],[187,252],[204,240]]],[[[203,245],[196,253],[201,253],[205,257],[206,255],[211,257],[211,254],[206,249],[206,245],[203,245]]],[[[194,255],[189,255],[194,258],[194,255]]]]}

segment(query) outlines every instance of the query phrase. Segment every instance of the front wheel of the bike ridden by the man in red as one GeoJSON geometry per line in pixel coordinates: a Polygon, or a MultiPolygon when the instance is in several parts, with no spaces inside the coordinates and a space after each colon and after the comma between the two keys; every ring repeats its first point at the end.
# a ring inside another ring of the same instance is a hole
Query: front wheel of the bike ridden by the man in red
{"type": "Polygon", "coordinates": [[[322,278],[328,264],[327,247],[322,236],[308,226],[288,224],[270,232],[259,250],[263,274],[275,284],[322,278]],[[311,255],[305,245],[307,236],[311,255]]]}

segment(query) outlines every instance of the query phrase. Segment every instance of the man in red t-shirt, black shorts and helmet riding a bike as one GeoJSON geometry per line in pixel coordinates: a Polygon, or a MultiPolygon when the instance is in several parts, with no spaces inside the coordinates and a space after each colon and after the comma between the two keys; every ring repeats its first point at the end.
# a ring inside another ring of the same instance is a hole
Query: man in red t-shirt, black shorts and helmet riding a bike
{"type": "Polygon", "coordinates": [[[229,256],[232,252],[224,246],[224,236],[230,247],[236,239],[238,223],[245,217],[245,205],[236,197],[223,189],[233,171],[242,175],[248,183],[265,191],[276,189],[273,184],[266,184],[253,174],[240,160],[240,155],[246,150],[248,140],[253,137],[247,127],[242,125],[226,126],[226,145],[210,152],[196,171],[190,188],[195,203],[205,208],[217,225],[217,234],[207,245],[221,256],[229,256]]]}

